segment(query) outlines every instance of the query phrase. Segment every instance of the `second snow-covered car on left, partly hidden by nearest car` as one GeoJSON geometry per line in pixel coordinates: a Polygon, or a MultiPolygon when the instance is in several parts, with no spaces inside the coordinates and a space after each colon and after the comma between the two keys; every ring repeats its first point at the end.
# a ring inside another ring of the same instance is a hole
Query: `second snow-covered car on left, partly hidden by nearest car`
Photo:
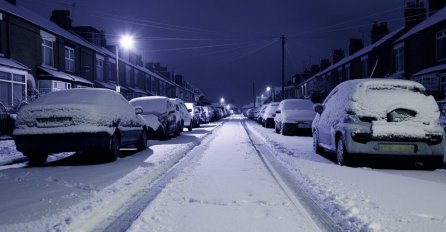
{"type": "Polygon", "coordinates": [[[130,100],[135,108],[143,109],[142,117],[147,126],[156,128],[149,137],[169,139],[183,131],[178,106],[169,98],[162,96],[137,97],[130,100]]]}

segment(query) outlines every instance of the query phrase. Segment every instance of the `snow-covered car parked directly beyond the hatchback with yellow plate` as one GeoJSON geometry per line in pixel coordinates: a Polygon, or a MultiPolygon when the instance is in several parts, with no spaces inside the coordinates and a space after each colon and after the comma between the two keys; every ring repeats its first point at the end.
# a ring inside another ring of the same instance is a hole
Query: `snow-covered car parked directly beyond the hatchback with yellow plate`
{"type": "Polygon", "coordinates": [[[282,135],[299,131],[311,131],[316,112],[313,110],[313,102],[307,99],[286,99],[279,103],[274,117],[276,133],[282,135]]]}

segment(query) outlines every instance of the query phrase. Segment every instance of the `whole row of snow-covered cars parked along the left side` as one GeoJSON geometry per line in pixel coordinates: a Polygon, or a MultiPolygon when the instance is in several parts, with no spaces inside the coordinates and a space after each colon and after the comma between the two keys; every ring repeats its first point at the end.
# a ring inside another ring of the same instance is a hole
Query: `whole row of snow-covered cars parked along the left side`
{"type": "Polygon", "coordinates": [[[198,127],[200,119],[194,125],[191,114],[199,112],[198,107],[187,109],[181,99],[147,96],[127,101],[107,89],[70,89],[42,95],[20,108],[13,138],[32,166],[44,164],[49,154],[71,151],[93,151],[114,161],[120,148],[144,150],[148,138],[167,140],[183,128],[198,127]]]}

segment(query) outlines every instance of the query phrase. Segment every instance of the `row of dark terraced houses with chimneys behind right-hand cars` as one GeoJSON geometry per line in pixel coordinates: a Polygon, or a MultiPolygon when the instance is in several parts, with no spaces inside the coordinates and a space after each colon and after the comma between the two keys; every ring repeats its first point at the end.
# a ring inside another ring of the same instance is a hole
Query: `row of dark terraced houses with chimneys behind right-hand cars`
{"type": "Polygon", "coordinates": [[[394,78],[420,82],[437,100],[446,97],[446,1],[404,1],[405,24],[391,32],[374,23],[371,44],[350,40],[346,56],[334,53],[332,64],[296,75],[286,88],[289,98],[328,94],[350,79],[394,78]]]}

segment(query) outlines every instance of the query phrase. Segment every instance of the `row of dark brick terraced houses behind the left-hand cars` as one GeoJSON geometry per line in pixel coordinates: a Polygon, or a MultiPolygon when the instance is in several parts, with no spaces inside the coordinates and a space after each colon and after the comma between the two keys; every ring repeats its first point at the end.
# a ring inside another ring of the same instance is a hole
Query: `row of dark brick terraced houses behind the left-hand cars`
{"type": "Polygon", "coordinates": [[[95,87],[119,89],[127,99],[198,98],[184,78],[177,83],[173,73],[148,66],[141,55],[107,45],[104,32],[72,26],[69,11],[46,19],[15,0],[0,0],[0,134],[10,129],[5,112],[51,91],[95,87]]]}

